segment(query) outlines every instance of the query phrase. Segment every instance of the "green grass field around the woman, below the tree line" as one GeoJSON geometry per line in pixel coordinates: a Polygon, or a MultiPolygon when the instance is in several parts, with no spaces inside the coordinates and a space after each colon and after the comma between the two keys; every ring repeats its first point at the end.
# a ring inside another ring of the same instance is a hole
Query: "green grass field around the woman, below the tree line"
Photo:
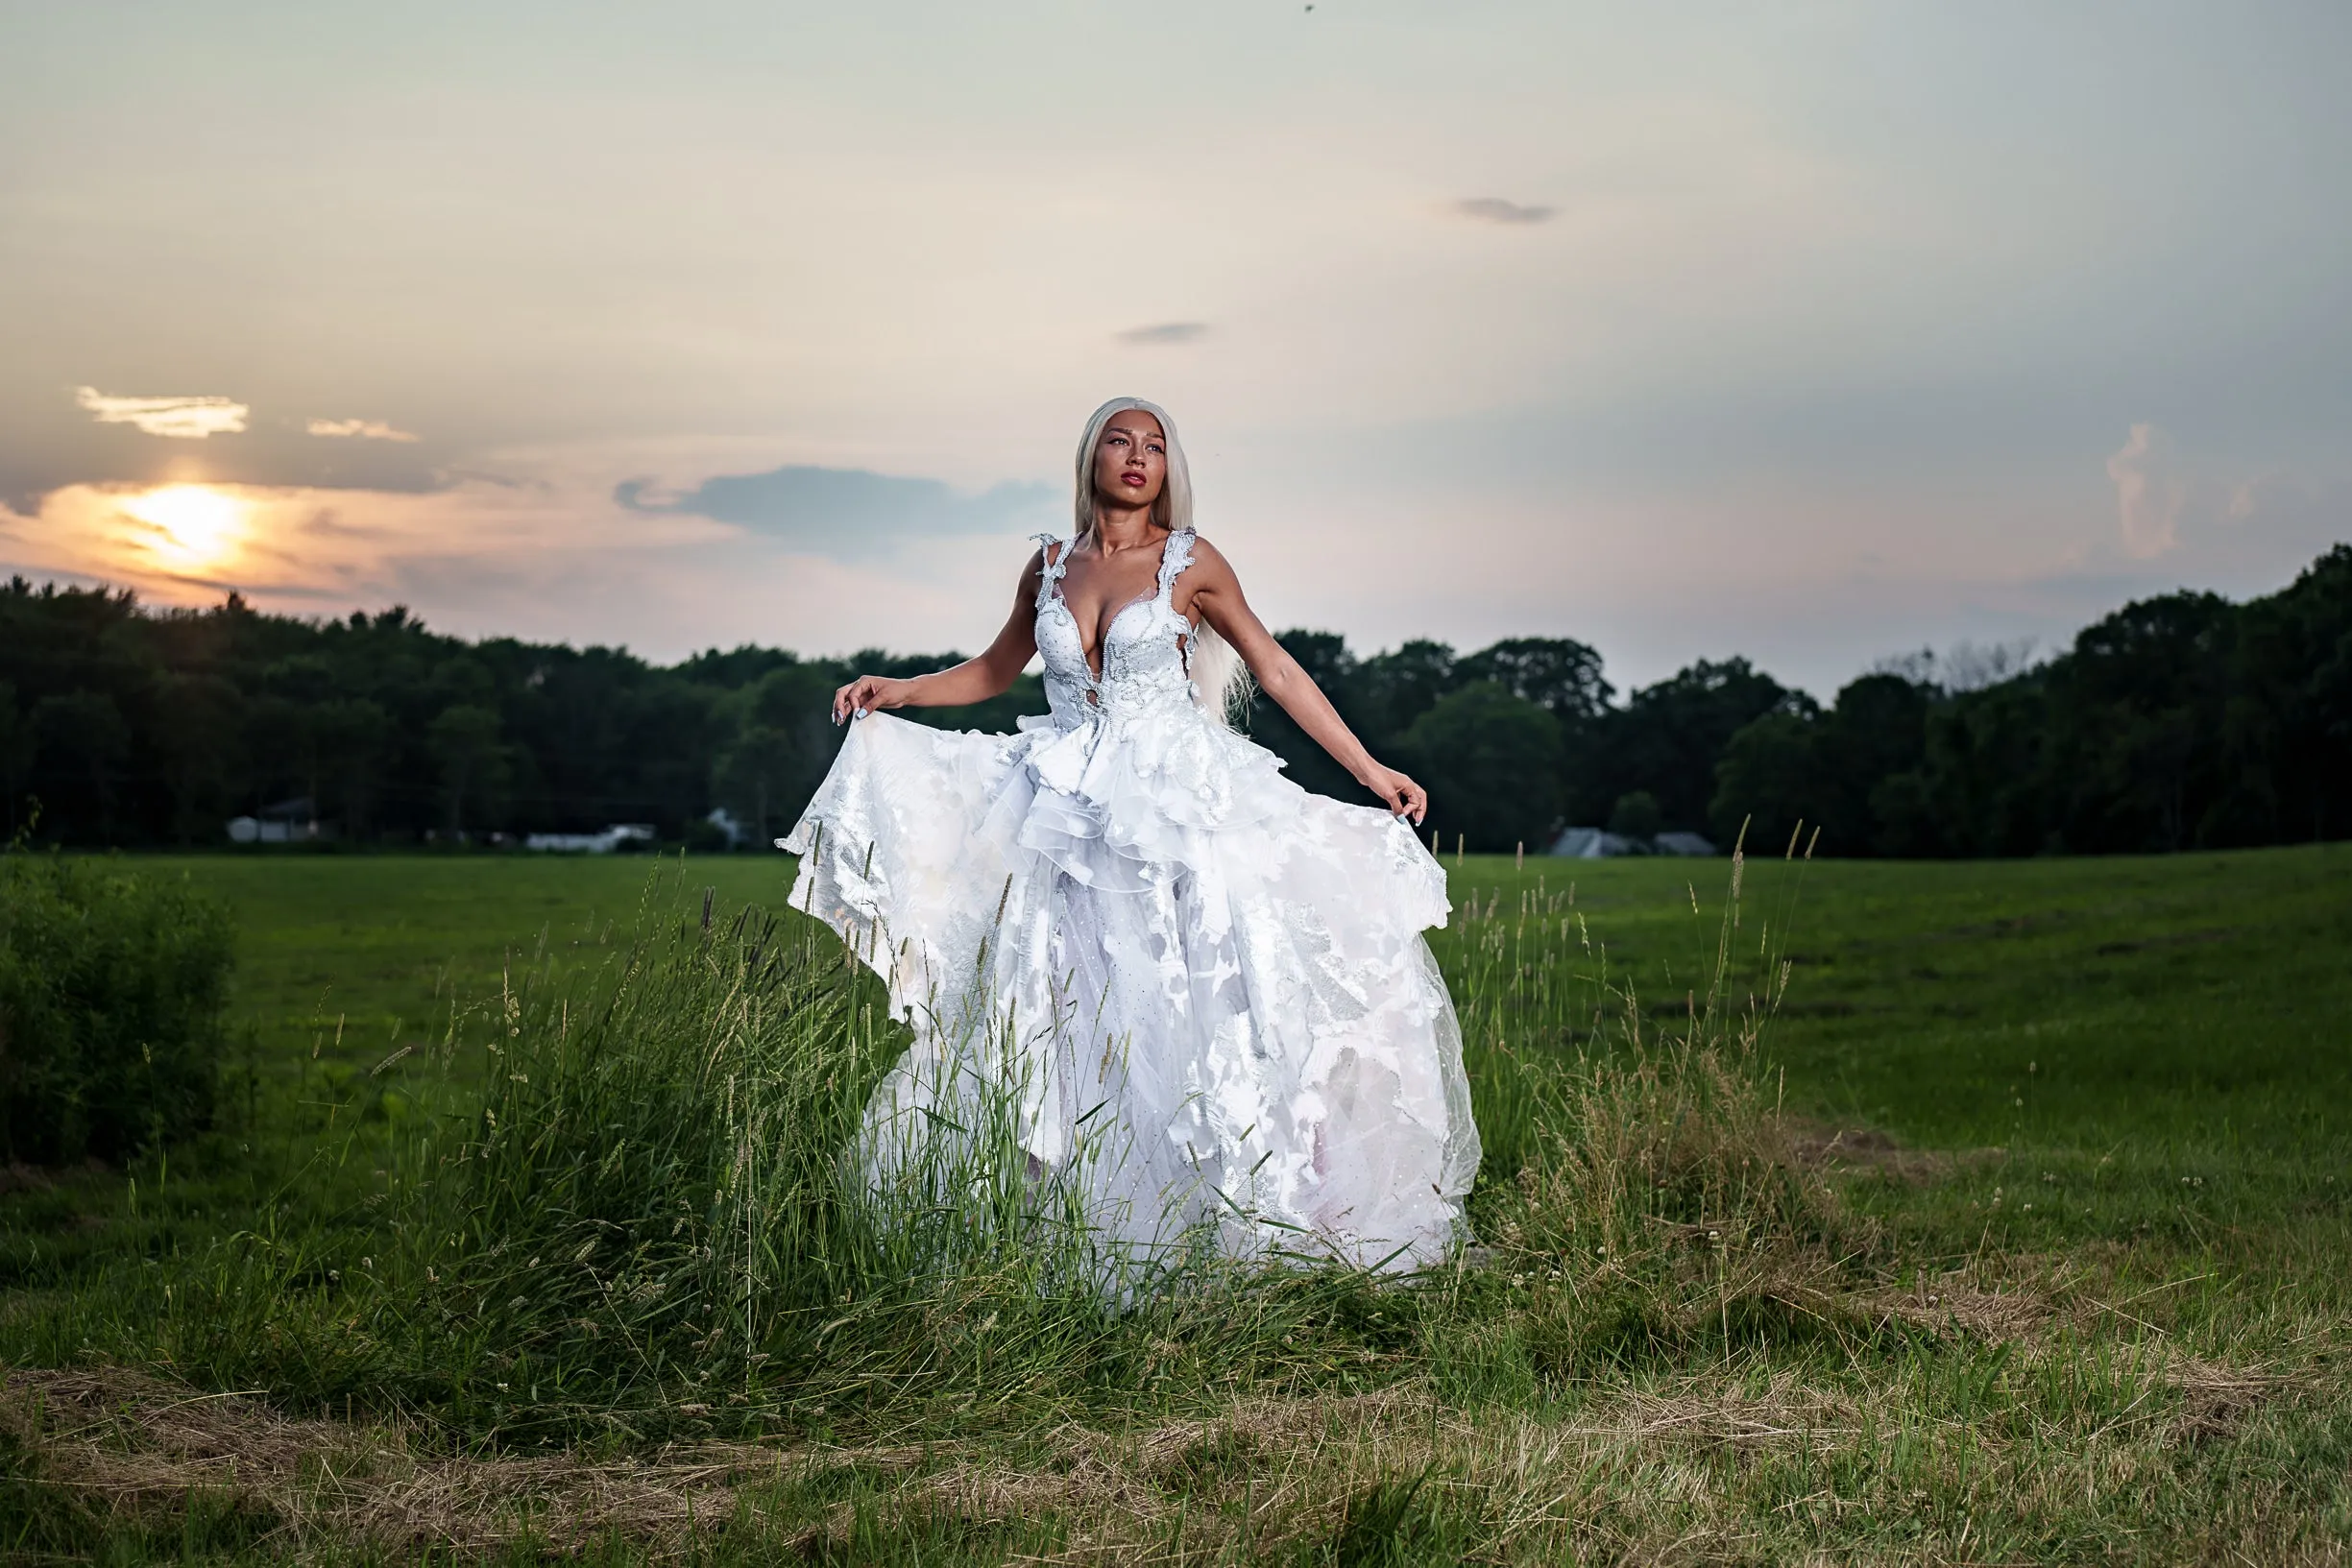
{"type": "MultiPolygon", "coordinates": [[[[1489,1128],[1486,1267],[1124,1316],[1002,1281],[920,1300],[866,1281],[840,1291],[856,1312],[776,1316],[715,1382],[673,1352],[626,1361],[595,1309],[532,1316],[539,1286],[496,1309],[435,1298],[454,1253],[402,1232],[426,1211],[402,1208],[397,1147],[485,1093],[485,1058],[437,1046],[485,1034],[501,987],[553,971],[534,994],[560,1009],[616,936],[699,926],[706,886],[720,924],[779,900],[783,860],[691,860],[654,893],[644,860],[146,865],[238,912],[240,1110],[141,1171],[14,1173],[0,1194],[0,1552],[2352,1547],[2352,846],[1759,860],[1733,973],[1764,987],[1788,959],[1788,990],[1755,1056],[1719,1025],[1668,1039],[1715,973],[1724,863],[1472,858],[1432,945],[1489,1128]],[[1677,1119],[1705,1135],[1653,1138],[1677,1119]],[[393,1279],[395,1253],[414,1274],[393,1279]],[[515,1368],[595,1394],[524,1396],[515,1368]]],[[[503,1018],[529,1044],[539,1013],[503,1018]]],[[[715,1342],[717,1316],[689,1326],[715,1342]]]]}

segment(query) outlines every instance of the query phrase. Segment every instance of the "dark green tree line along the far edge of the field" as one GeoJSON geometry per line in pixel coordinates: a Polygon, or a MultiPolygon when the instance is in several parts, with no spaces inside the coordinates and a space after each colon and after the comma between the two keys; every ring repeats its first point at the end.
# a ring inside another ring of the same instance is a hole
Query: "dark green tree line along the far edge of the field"
{"type": "MultiPolygon", "coordinates": [[[[1543,846],[1562,823],[1825,853],[2020,856],[2352,837],[2352,545],[2232,604],[2126,604],[2044,663],[1957,679],[1896,661],[1828,705],[1745,658],[1698,661],[1618,701],[1590,646],[1515,637],[1472,654],[1334,632],[1279,642],[1383,759],[1430,788],[1451,846],[1543,846]]],[[[9,827],[68,844],[216,844],[289,802],[343,844],[480,844],[649,823],[753,844],[823,778],[826,708],[851,672],[920,675],[957,654],[847,661],[739,646],[654,665],[626,649],[466,642],[405,609],[308,621],[230,595],[202,611],[16,578],[0,592],[0,795],[9,827]]],[[[993,703],[908,710],[955,729],[1042,712],[1035,677],[993,703]]],[[[1291,776],[1357,785],[1272,703],[1249,731],[1291,776]]]]}

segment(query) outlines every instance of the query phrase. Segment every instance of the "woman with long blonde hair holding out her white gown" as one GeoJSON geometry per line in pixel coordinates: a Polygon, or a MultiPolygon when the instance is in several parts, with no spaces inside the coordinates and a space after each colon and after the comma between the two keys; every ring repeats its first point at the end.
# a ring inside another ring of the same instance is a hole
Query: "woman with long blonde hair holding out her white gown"
{"type": "Polygon", "coordinates": [[[793,907],[915,1025],[866,1117],[870,1180],[993,1103],[1025,1178],[1063,1182],[1129,1260],[1204,1241],[1444,1258],[1479,1140],[1421,936],[1446,919],[1409,825],[1428,797],[1374,762],[1192,531],[1162,409],[1096,409],[1077,534],[1037,538],[985,654],[835,693],[849,738],[779,839],[802,856],[793,907]],[[993,698],[1033,654],[1051,715],[1016,736],[887,717],[993,698]],[[1388,811],[1308,795],[1232,733],[1247,675],[1388,811]]]}

